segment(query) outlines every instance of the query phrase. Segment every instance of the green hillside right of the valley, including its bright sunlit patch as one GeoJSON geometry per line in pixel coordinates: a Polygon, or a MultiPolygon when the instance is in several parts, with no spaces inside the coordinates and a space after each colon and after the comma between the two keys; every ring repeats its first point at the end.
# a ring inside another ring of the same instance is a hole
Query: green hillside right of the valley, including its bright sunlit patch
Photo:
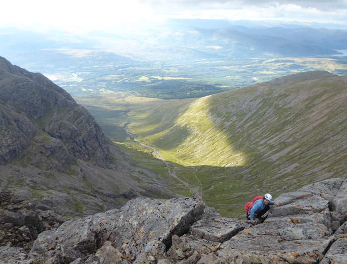
{"type": "Polygon", "coordinates": [[[310,77],[199,99],[124,95],[118,99],[124,111],[113,117],[119,131],[114,136],[106,118],[111,116],[107,104],[116,105],[111,94],[105,104],[96,97],[100,108],[94,112],[96,102],[88,103],[88,97],[77,101],[123,149],[136,144],[121,129],[128,122],[136,140],[157,148],[172,172],[207,205],[224,216],[243,217],[244,204],[258,194],[276,197],[311,182],[346,177],[347,77],[310,77]]]}

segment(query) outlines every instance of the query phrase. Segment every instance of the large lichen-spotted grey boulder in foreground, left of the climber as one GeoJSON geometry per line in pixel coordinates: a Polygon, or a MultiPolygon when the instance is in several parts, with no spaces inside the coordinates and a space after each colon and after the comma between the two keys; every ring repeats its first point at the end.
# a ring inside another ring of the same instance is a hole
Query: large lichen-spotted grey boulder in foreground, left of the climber
{"type": "Polygon", "coordinates": [[[204,207],[195,198],[137,198],[120,210],[73,218],[56,231],[41,233],[29,255],[35,261],[58,264],[91,255],[110,263],[158,261],[167,258],[165,249],[171,246],[173,235],[188,232],[204,207]],[[115,252],[118,257],[113,256],[115,252]]]}

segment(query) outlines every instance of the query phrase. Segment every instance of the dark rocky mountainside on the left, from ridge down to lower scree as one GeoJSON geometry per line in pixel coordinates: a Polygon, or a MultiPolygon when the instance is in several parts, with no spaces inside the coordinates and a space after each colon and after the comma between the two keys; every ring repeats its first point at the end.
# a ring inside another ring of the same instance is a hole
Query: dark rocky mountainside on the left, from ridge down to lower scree
{"type": "Polygon", "coordinates": [[[82,216],[135,197],[176,197],[166,185],[116,147],[65,90],[0,57],[0,188],[33,210],[82,216]]]}

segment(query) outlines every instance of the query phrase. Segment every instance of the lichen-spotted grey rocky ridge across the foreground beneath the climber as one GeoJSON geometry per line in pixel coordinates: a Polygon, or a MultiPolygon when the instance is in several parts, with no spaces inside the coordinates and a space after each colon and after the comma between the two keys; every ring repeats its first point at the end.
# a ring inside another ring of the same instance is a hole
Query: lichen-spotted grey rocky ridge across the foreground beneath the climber
{"type": "Polygon", "coordinates": [[[2,263],[343,264],[347,179],[285,193],[263,224],[222,217],[195,198],[137,198],[39,234],[29,253],[0,247],[2,263]],[[255,224],[255,225],[254,225],[255,224]]]}

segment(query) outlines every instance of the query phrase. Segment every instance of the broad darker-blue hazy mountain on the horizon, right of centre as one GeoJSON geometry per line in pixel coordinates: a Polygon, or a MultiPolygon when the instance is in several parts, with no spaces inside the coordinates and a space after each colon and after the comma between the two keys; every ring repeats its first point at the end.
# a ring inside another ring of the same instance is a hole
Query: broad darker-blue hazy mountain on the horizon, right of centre
{"type": "MultiPolygon", "coordinates": [[[[244,30],[253,32],[244,33],[234,29],[194,29],[179,32],[170,32],[159,35],[154,40],[155,43],[162,45],[174,45],[179,47],[191,48],[198,51],[223,54],[231,57],[244,55],[283,55],[283,56],[317,56],[336,53],[331,49],[321,48],[314,45],[307,45],[285,39],[274,37],[281,35],[286,29],[280,32],[270,31],[264,34],[265,30],[244,30]],[[254,32],[257,31],[257,34],[254,32]]],[[[315,31],[312,29],[312,31],[315,31]]],[[[290,34],[283,34],[290,36],[290,34]]],[[[300,33],[300,36],[306,34],[300,33]]],[[[295,36],[292,36],[295,38],[295,36]]]]}

